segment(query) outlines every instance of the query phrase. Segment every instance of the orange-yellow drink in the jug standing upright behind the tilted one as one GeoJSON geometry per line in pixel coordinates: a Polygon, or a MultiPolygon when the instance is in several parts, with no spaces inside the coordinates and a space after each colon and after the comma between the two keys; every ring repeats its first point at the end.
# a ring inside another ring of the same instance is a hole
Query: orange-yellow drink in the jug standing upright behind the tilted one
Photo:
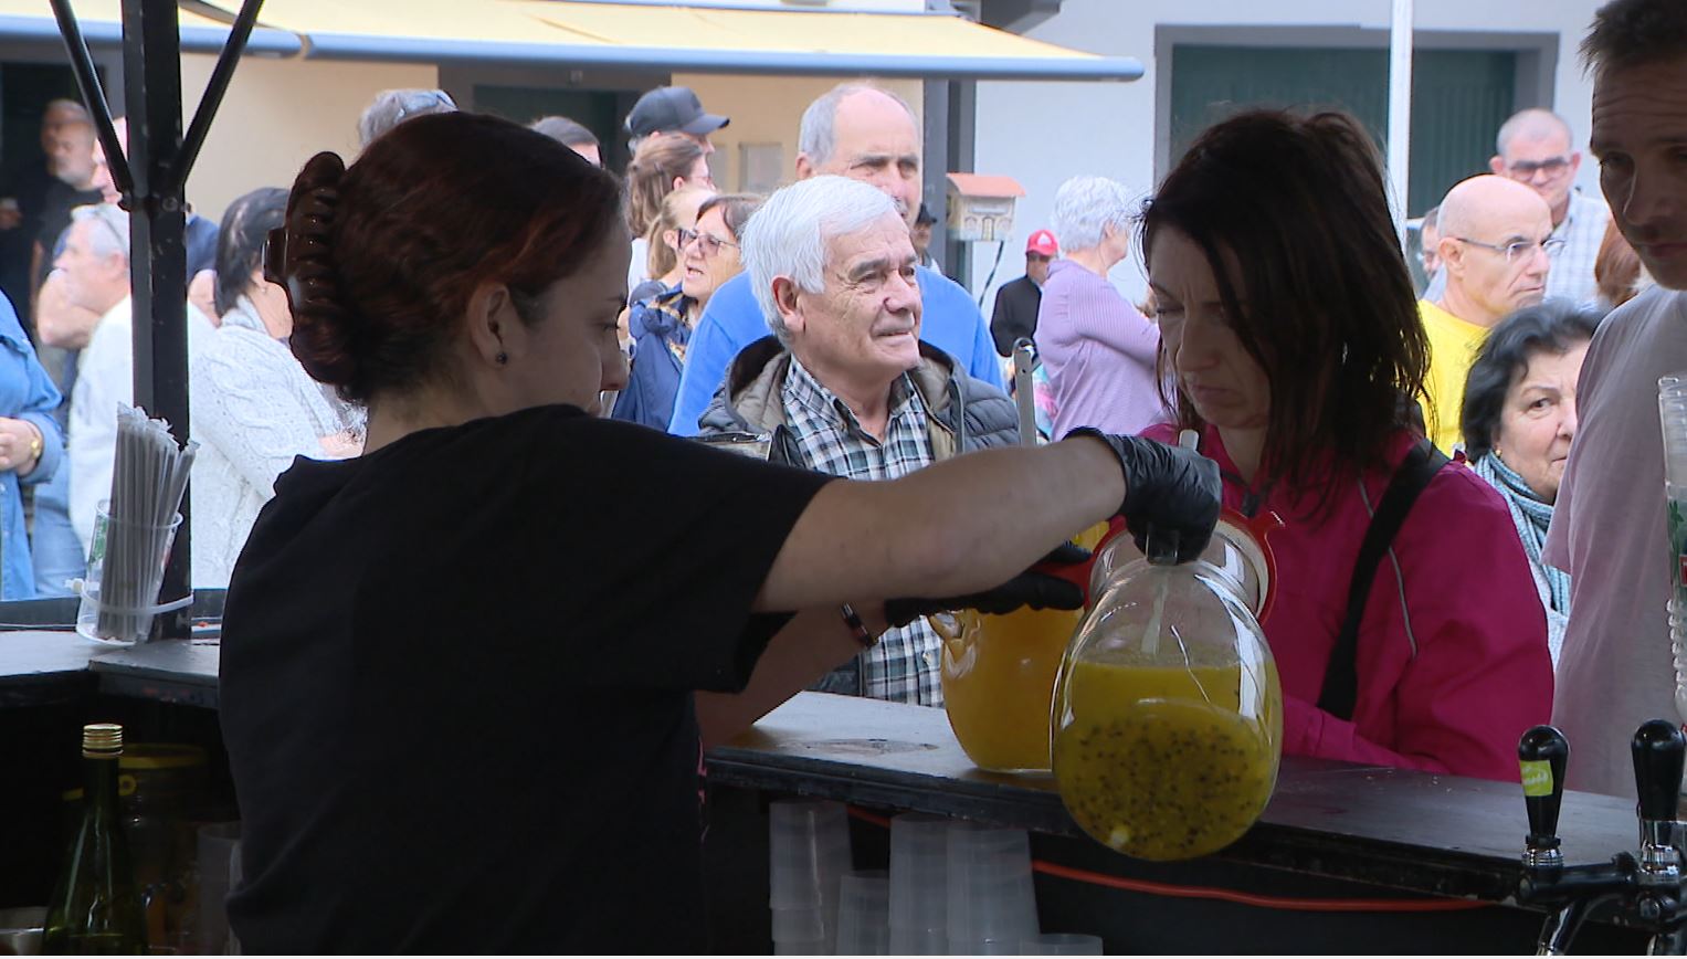
{"type": "Polygon", "coordinates": [[[1049,768],[1049,704],[1066,640],[1083,610],[1019,610],[978,616],[960,655],[943,645],[943,706],[950,728],[980,768],[1049,768]]]}

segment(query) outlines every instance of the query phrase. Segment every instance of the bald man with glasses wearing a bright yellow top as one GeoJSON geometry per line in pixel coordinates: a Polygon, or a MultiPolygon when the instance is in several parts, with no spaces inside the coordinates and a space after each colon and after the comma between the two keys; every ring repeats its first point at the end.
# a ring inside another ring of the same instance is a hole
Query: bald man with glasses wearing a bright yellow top
{"type": "Polygon", "coordinates": [[[1542,301],[1550,255],[1552,211],[1533,189],[1483,174],[1459,182],[1441,201],[1441,275],[1446,289],[1417,312],[1429,334],[1424,422],[1446,452],[1459,442],[1464,377],[1488,331],[1513,311],[1542,301]]]}

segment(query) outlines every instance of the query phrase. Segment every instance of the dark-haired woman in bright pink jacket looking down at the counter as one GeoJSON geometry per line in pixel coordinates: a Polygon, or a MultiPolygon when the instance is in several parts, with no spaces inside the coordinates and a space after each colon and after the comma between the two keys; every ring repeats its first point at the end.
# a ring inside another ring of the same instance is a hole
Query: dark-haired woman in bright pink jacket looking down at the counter
{"type": "Polygon", "coordinates": [[[1552,711],[1545,613],[1505,503],[1407,400],[1427,343],[1370,137],[1341,113],[1220,123],[1142,248],[1176,383],[1149,436],[1198,429],[1225,507],[1285,523],[1262,623],[1285,751],[1517,780],[1552,711]]]}

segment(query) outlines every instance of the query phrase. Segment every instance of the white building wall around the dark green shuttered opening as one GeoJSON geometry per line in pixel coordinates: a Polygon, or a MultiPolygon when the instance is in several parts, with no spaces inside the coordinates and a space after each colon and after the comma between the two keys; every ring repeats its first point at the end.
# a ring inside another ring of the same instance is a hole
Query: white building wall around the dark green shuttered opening
{"type": "MultiPolygon", "coordinates": [[[[1593,88],[1581,73],[1576,46],[1599,0],[1540,0],[1528,5],[1417,0],[1415,29],[1559,34],[1550,106],[1562,113],[1586,150],[1593,88]]],[[[1144,194],[1154,187],[1156,25],[1262,25],[1388,29],[1388,0],[1064,0],[1061,12],[1026,35],[1107,56],[1134,56],[1145,76],[1135,83],[980,83],[978,172],[1009,174],[1026,187],[1014,216],[1014,236],[1002,272],[985,292],[1021,275],[1026,236],[1048,226],[1054,191],[1071,176],[1102,174],[1144,194]]],[[[1598,191],[1594,164],[1577,177],[1598,191]]],[[[984,282],[995,250],[978,245],[972,285],[984,282]]],[[[1120,263],[1112,280],[1132,301],[1145,290],[1140,263],[1120,263]]]]}

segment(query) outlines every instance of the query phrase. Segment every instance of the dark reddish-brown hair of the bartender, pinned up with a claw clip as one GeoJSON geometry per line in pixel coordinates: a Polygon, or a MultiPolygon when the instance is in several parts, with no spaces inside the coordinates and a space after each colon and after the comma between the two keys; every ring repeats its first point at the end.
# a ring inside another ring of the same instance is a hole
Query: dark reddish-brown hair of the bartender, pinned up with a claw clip
{"type": "Polygon", "coordinates": [[[523,321],[616,230],[616,179],[540,133],[472,113],[417,116],[351,169],[310,157],[267,275],[287,287],[292,349],[348,400],[450,375],[447,343],[481,284],[523,321]]]}

